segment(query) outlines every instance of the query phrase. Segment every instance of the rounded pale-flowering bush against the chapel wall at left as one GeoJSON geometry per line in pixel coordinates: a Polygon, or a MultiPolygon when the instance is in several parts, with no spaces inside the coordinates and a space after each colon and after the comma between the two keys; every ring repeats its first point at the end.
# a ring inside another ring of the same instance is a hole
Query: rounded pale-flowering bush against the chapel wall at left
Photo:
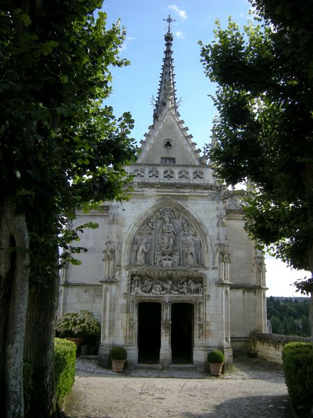
{"type": "Polygon", "coordinates": [[[79,337],[98,336],[101,331],[100,323],[93,312],[67,312],[56,323],[58,336],[79,337]]]}

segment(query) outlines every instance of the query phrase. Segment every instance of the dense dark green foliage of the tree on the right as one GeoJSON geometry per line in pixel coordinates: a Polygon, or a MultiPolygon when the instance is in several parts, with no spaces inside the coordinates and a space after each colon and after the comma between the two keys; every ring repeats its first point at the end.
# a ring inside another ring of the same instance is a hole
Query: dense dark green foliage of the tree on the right
{"type": "MultiPolygon", "coordinates": [[[[294,268],[313,271],[313,3],[251,0],[257,22],[217,22],[202,45],[218,84],[216,144],[207,152],[227,184],[249,179],[246,229],[294,268]]],[[[310,291],[312,279],[303,284],[310,291]]]]}

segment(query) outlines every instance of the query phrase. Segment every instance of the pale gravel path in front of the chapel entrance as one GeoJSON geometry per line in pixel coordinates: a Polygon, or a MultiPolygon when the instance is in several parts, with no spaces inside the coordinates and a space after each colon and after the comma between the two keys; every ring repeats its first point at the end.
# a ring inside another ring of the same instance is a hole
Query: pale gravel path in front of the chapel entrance
{"type": "Polygon", "coordinates": [[[246,358],[221,378],[198,371],[117,374],[79,358],[65,412],[72,418],[292,417],[282,369],[246,358]]]}

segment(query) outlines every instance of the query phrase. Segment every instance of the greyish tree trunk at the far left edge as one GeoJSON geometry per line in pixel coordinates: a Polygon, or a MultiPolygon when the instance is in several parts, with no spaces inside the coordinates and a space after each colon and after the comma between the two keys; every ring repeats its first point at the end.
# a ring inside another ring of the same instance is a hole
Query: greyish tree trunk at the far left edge
{"type": "Polygon", "coordinates": [[[0,401],[6,418],[24,417],[23,347],[29,288],[29,233],[13,196],[0,207],[0,401]]]}

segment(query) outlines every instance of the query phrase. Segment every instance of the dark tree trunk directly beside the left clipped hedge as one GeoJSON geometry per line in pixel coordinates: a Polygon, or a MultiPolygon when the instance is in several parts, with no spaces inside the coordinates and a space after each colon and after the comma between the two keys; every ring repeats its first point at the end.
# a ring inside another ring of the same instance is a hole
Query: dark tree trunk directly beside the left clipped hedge
{"type": "MultiPolygon", "coordinates": [[[[49,247],[50,251],[53,251],[49,247]]],[[[57,262],[58,252],[55,249],[57,262]]],[[[49,257],[51,258],[51,254],[49,257]]],[[[29,288],[24,359],[33,364],[34,392],[28,412],[30,418],[57,417],[54,382],[54,336],[58,307],[58,268],[33,281],[29,288]]]]}

